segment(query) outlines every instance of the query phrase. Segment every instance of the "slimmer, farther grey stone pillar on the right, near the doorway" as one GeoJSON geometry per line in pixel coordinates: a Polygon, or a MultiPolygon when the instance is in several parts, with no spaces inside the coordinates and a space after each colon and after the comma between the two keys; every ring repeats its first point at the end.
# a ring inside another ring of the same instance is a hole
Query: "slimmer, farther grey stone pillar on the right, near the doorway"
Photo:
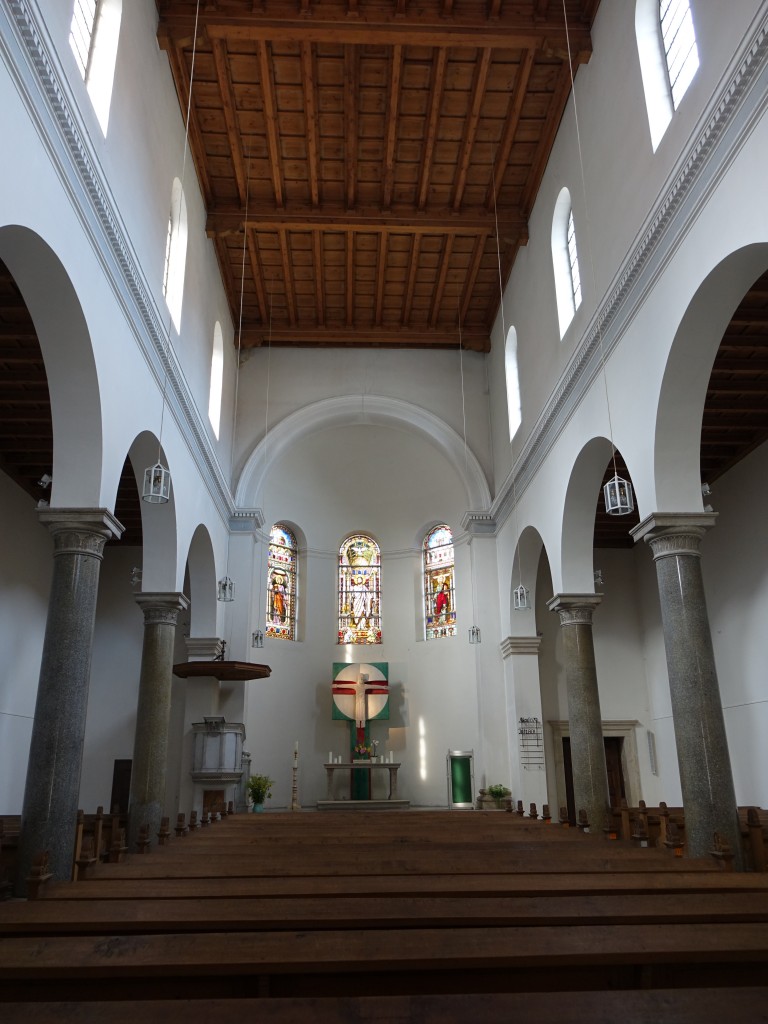
{"type": "Polygon", "coordinates": [[[598,594],[556,594],[547,602],[562,627],[575,812],[587,812],[593,833],[608,824],[608,774],[592,640],[592,614],[600,600],[598,594]]]}

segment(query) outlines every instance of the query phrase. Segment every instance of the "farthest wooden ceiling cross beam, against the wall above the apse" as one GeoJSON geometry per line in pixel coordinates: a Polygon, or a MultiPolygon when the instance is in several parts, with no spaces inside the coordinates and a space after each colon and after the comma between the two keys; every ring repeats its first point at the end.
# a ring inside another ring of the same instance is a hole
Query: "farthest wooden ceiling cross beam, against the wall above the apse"
{"type": "MultiPolygon", "coordinates": [[[[263,328],[243,330],[243,347],[265,347],[268,332],[263,328]]],[[[489,352],[490,339],[486,331],[467,331],[462,335],[463,348],[475,352],[489,352]]],[[[356,328],[354,325],[325,328],[273,328],[271,344],[291,347],[349,347],[349,348],[456,348],[456,328],[356,328]]]]}

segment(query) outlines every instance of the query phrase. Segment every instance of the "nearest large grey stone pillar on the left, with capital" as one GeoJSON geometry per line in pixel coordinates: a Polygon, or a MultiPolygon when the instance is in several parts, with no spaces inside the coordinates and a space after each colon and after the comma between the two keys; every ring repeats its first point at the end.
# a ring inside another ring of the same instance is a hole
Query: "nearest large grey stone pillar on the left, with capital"
{"type": "Polygon", "coordinates": [[[34,857],[48,851],[53,877],[72,878],[98,573],[122,525],[106,509],[44,509],[53,535],[53,578],[22,812],[16,895],[34,857]]]}

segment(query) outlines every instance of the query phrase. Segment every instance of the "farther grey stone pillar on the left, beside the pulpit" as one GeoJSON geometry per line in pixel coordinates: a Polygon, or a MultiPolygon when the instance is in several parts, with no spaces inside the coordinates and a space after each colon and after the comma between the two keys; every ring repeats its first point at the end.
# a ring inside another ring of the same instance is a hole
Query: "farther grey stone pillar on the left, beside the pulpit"
{"type": "Polygon", "coordinates": [[[176,618],[189,604],[183,594],[175,593],[138,594],[136,603],[144,613],[144,643],[128,809],[131,850],[142,824],[150,825],[154,842],[163,817],[176,618]]]}

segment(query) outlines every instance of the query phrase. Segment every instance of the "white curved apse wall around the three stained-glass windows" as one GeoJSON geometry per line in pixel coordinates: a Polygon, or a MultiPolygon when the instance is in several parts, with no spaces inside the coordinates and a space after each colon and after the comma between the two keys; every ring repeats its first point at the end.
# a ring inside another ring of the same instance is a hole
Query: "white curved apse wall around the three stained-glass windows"
{"type": "MultiPolygon", "coordinates": [[[[267,527],[286,521],[306,537],[305,578],[299,582],[306,617],[302,642],[265,640],[260,657],[271,676],[247,684],[246,746],[253,771],[278,780],[273,804],[286,806],[298,739],[300,800],[311,805],[324,798],[322,764],[330,751],[339,755],[348,749],[348,727],[331,720],[332,666],[387,662],[391,719],[388,728],[372,726],[372,736],[402,762],[404,797],[416,805],[444,806],[447,749],[479,754],[480,746],[482,672],[467,639],[472,594],[470,550],[460,527],[466,505],[462,482],[415,432],[336,427],[304,438],[281,459],[268,476],[263,503],[267,527]],[[438,522],[446,522],[457,541],[459,636],[425,641],[420,544],[438,522]],[[338,549],[357,530],[370,532],[382,549],[383,643],[376,646],[336,643],[338,549]]],[[[488,589],[493,597],[495,580],[488,589]]],[[[254,606],[264,603],[262,584],[254,606]]],[[[492,646],[496,650],[492,642],[488,655],[492,646]]]]}

